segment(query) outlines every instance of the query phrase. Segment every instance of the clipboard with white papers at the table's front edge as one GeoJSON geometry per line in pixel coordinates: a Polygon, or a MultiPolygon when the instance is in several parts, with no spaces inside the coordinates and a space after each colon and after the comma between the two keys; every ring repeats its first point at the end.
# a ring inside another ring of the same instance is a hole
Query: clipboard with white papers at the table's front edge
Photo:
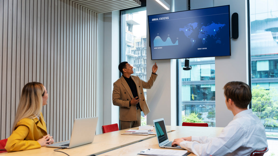
{"type": "Polygon", "coordinates": [[[185,156],[190,154],[187,150],[169,150],[169,149],[146,149],[138,154],[142,155],[170,155],[170,156],[185,156]]]}

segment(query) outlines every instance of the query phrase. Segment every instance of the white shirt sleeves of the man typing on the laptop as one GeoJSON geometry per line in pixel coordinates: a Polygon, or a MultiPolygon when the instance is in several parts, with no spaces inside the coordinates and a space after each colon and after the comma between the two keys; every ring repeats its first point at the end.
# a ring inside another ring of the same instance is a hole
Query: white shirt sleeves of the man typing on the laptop
{"type": "Polygon", "coordinates": [[[192,141],[183,141],[180,146],[196,155],[227,155],[243,144],[245,135],[241,124],[231,121],[217,137],[192,137],[192,141]]]}

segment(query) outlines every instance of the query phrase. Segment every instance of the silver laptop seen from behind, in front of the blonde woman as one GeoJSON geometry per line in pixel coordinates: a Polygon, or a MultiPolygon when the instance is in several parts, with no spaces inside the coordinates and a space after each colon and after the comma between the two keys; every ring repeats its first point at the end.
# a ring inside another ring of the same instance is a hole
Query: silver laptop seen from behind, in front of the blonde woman
{"type": "Polygon", "coordinates": [[[70,140],[46,145],[46,147],[63,147],[69,149],[76,146],[92,143],[94,141],[97,123],[98,117],[75,119],[73,122],[73,129],[71,132],[70,140]]]}

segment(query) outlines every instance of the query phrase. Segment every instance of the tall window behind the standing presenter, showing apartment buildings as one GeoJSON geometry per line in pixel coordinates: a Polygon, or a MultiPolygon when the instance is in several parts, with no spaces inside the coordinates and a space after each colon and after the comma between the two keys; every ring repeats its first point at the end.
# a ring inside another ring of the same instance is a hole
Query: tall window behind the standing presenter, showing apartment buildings
{"type": "MultiPolygon", "coordinates": [[[[121,62],[127,61],[134,74],[146,81],[146,8],[121,11],[121,62]]],[[[144,90],[147,98],[146,89],[144,90]]],[[[141,112],[141,125],[146,125],[146,116],[141,112]]]]}

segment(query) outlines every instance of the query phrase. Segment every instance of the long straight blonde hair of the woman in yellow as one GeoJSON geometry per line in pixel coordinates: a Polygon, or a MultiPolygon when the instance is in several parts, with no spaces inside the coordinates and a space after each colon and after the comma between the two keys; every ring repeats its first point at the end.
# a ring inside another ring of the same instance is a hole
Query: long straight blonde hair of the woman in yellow
{"type": "Polygon", "coordinates": [[[39,82],[29,82],[23,87],[11,132],[21,119],[39,116],[43,107],[43,95],[44,86],[39,82]]]}

